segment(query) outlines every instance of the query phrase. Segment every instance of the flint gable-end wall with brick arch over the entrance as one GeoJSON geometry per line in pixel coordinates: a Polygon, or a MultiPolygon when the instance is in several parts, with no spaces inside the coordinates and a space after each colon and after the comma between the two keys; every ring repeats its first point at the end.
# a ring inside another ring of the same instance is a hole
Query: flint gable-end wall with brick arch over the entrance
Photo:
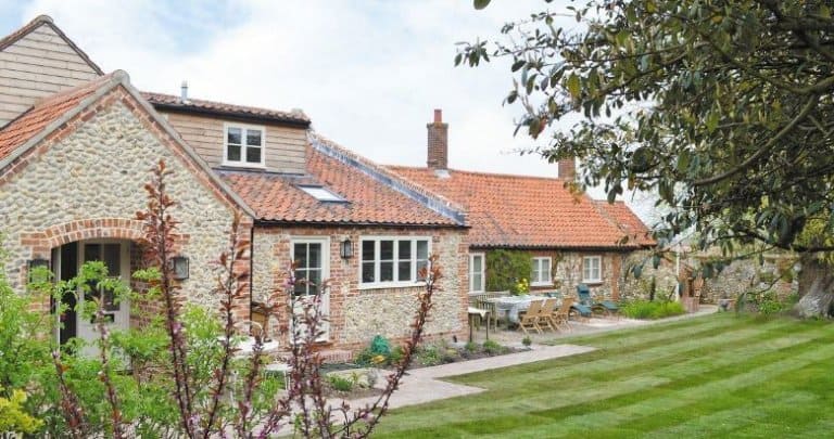
{"type": "MultiPolygon", "coordinates": [[[[172,171],[176,250],[190,259],[190,277],[180,286],[189,301],[217,309],[212,261],[228,246],[235,208],[122,88],[0,170],[0,234],[12,285],[23,288],[27,260],[50,259],[53,248],[84,240],[129,241],[130,266],[138,268],[136,243],[143,234],[134,218],[146,208],[143,185],[160,159],[172,171]]],[[[245,240],[251,223],[243,220],[245,240]]],[[[148,307],[153,312],[153,304],[148,307]]]]}

